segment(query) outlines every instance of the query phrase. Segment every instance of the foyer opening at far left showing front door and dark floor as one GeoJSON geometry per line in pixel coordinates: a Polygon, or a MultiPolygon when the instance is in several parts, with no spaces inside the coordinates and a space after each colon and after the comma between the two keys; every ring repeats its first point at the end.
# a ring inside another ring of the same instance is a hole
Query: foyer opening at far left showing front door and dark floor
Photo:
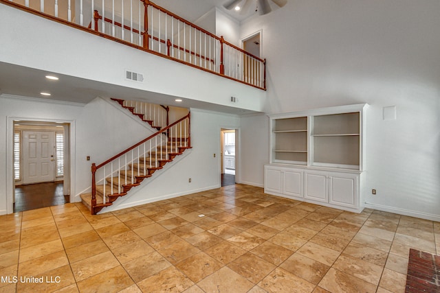
{"type": "Polygon", "coordinates": [[[69,202],[69,124],[14,121],[13,212],[69,202]]]}

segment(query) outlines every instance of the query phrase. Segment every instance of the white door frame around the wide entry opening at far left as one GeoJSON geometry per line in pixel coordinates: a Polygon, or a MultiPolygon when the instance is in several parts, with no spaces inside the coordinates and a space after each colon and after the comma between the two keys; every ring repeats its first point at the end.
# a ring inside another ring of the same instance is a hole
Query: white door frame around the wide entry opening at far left
{"type": "MultiPolygon", "coordinates": [[[[8,116],[6,121],[6,211],[14,212],[15,180],[14,180],[14,124],[21,121],[24,124],[61,124],[64,127],[65,144],[65,174],[63,183],[63,193],[69,195],[69,201],[74,200],[75,187],[75,120],[45,119],[35,117],[12,117],[8,116]],[[66,164],[67,163],[67,164],[66,164]]],[[[0,214],[4,211],[0,211],[0,214]]]]}

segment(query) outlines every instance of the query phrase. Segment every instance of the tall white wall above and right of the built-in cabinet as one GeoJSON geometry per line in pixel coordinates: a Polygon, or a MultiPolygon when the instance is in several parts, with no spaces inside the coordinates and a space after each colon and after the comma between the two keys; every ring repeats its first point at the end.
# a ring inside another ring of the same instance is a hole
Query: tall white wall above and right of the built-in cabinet
{"type": "MultiPolygon", "coordinates": [[[[367,207],[434,220],[440,220],[439,11],[437,0],[296,0],[241,26],[242,37],[263,30],[265,112],[370,104],[366,189],[377,195],[366,194],[367,207]],[[383,120],[385,106],[396,106],[396,120],[383,120]]],[[[252,129],[249,122],[242,119],[243,132],[252,129]]],[[[261,155],[254,151],[243,165],[261,155]]],[[[248,176],[263,183],[261,168],[248,176]]]]}

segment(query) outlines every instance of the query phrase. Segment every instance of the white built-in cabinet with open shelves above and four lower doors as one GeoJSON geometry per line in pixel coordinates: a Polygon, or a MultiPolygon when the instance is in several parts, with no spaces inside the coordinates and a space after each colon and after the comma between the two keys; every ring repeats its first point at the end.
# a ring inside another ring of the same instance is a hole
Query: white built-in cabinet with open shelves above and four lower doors
{"type": "Polygon", "coordinates": [[[269,115],[265,193],[362,211],[367,106],[269,115]]]}

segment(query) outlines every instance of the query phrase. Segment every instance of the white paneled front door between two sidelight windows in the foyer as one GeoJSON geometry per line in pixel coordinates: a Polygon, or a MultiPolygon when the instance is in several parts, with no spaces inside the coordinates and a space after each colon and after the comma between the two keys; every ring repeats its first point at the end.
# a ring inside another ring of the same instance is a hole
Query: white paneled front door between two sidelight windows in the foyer
{"type": "Polygon", "coordinates": [[[54,181],[52,131],[23,131],[23,184],[54,181]]]}

